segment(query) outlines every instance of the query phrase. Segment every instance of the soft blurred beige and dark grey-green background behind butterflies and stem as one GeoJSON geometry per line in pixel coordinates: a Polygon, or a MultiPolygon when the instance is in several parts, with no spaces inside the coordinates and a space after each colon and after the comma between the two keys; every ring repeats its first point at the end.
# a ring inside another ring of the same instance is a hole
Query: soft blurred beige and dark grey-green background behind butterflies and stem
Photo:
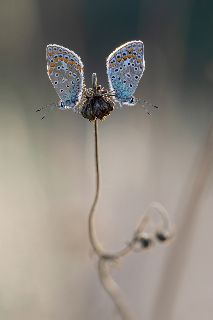
{"type": "Polygon", "coordinates": [[[148,204],[160,202],[175,242],[130,254],[113,277],[138,319],[212,318],[211,171],[186,245],[177,245],[213,118],[212,15],[211,0],[1,0],[0,319],[120,319],[90,254],[93,124],[58,108],[41,121],[48,110],[35,110],[59,101],[48,44],[81,57],[87,88],[93,72],[109,88],[106,57],[132,40],[143,41],[146,61],[135,96],[159,109],[145,105],[148,116],[139,103],[125,105],[99,121],[97,235],[118,250],[148,204]]]}

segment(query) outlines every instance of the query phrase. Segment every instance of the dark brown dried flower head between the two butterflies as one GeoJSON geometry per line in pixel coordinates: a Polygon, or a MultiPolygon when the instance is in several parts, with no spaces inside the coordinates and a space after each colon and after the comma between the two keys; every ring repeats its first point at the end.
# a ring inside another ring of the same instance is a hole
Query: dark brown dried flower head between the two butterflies
{"type": "Polygon", "coordinates": [[[83,97],[80,100],[79,107],[81,115],[95,121],[100,119],[103,121],[106,116],[114,109],[115,103],[109,98],[112,94],[108,90],[103,90],[100,85],[97,85],[96,74],[92,75],[93,88],[83,88],[83,97]]]}

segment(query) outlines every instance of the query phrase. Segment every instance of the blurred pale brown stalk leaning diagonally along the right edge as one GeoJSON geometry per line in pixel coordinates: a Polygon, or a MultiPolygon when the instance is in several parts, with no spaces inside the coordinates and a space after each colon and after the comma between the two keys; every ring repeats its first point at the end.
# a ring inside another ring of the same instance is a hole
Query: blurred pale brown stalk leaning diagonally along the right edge
{"type": "Polygon", "coordinates": [[[163,275],[156,294],[152,320],[173,319],[176,298],[182,284],[188,261],[193,227],[199,214],[198,206],[207,186],[213,166],[213,122],[204,141],[200,166],[198,168],[191,195],[187,201],[184,218],[178,227],[179,233],[164,264],[163,275]]]}

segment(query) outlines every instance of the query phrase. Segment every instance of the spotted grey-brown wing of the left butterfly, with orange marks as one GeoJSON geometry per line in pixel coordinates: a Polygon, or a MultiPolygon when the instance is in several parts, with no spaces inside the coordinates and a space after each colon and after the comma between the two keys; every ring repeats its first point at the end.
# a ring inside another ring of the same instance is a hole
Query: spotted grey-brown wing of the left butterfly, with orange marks
{"type": "Polygon", "coordinates": [[[49,79],[65,106],[73,107],[79,100],[84,80],[80,57],[57,44],[49,44],[46,53],[49,79]]]}

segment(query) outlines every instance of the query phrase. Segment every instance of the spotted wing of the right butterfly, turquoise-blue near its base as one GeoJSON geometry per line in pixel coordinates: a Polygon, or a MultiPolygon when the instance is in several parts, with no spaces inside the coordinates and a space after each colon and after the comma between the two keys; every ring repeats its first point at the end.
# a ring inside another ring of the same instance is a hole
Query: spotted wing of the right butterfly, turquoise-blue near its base
{"type": "Polygon", "coordinates": [[[107,75],[110,89],[115,91],[115,101],[128,104],[145,68],[142,41],[121,45],[107,58],[107,75]]]}

